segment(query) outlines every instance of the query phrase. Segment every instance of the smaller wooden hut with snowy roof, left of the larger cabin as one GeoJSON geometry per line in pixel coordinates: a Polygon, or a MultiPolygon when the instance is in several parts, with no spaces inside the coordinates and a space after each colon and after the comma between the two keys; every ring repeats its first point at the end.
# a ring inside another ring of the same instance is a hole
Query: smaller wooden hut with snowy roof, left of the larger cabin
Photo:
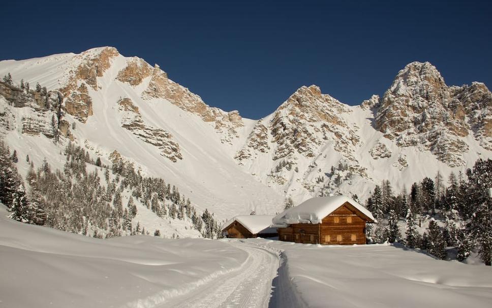
{"type": "Polygon", "coordinates": [[[229,238],[273,237],[276,228],[271,228],[274,215],[240,215],[224,224],[222,233],[229,238]]]}

